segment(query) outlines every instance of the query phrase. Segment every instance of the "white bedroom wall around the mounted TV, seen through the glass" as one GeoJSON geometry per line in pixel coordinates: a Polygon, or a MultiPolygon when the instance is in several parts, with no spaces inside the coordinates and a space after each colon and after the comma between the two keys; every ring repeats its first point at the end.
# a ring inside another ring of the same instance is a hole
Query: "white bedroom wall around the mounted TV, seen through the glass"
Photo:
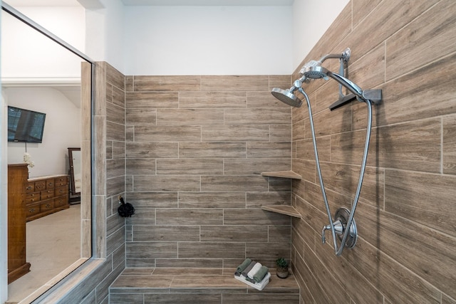
{"type": "MultiPolygon", "coordinates": [[[[28,143],[29,177],[68,174],[68,147],[81,147],[81,108],[53,88],[4,88],[8,105],[46,113],[43,142],[28,143]]],[[[8,163],[24,163],[24,142],[8,142],[8,163]]]]}

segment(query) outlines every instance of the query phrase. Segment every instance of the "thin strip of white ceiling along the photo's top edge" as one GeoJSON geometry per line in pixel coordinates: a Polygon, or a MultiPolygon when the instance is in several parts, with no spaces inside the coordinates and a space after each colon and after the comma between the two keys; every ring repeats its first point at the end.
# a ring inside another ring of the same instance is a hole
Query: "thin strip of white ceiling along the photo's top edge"
{"type": "MultiPolygon", "coordinates": [[[[6,0],[11,6],[80,6],[99,0],[6,0]]],[[[126,6],[291,6],[294,0],[121,0],[126,6]]]]}

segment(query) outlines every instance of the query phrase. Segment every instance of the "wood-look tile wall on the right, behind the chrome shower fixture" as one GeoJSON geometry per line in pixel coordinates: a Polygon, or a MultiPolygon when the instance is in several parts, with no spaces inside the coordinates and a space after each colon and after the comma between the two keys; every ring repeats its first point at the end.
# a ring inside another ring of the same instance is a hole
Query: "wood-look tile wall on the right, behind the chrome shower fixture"
{"type": "MultiPolygon", "coordinates": [[[[348,75],[380,88],[356,209],[356,247],[336,257],[306,107],[293,110],[292,258],[302,303],[456,303],[456,2],[352,0],[303,64],[351,48],[348,75]],[[327,234],[329,236],[329,234],[327,234]]],[[[338,61],[323,66],[338,70],[338,61]]],[[[297,71],[294,78],[298,78],[297,71]]],[[[350,207],[366,136],[366,105],[328,110],[337,83],[305,84],[332,214],[350,207]]]]}

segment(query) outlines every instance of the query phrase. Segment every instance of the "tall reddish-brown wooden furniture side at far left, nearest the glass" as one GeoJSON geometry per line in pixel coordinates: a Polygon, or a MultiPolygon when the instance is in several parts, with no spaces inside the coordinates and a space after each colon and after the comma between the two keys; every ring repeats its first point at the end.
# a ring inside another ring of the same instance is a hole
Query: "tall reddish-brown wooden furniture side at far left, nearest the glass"
{"type": "Polygon", "coordinates": [[[8,283],[30,271],[26,262],[27,164],[8,165],[8,283]]]}

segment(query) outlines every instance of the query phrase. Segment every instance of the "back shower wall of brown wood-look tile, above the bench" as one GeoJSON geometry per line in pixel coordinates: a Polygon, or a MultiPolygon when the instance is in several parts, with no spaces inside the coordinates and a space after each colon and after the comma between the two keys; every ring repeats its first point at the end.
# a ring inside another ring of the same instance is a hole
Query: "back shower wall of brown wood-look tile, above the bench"
{"type": "MultiPolygon", "coordinates": [[[[274,100],[290,76],[127,76],[128,267],[273,266],[291,256],[291,109],[274,100]]],[[[119,166],[121,167],[121,165],[119,166]]]]}

